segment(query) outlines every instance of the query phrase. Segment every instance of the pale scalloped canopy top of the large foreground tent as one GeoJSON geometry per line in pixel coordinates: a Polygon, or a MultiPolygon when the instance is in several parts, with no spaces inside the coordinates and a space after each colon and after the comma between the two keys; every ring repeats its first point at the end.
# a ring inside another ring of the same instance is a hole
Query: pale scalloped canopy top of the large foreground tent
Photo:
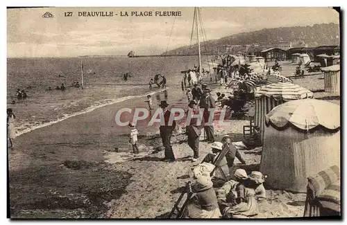
{"type": "Polygon", "coordinates": [[[273,108],[265,116],[266,123],[284,127],[287,123],[300,128],[312,129],[322,125],[328,129],[340,127],[340,107],[332,102],[316,99],[301,99],[285,102],[273,108]]]}

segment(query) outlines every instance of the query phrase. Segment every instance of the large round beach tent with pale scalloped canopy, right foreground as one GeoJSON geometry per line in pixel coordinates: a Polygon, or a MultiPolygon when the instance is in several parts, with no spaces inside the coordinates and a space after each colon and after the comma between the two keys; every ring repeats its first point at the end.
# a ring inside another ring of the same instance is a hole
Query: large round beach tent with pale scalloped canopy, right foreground
{"type": "Polygon", "coordinates": [[[260,171],[271,188],[306,192],[307,177],[340,165],[340,107],[293,100],[266,115],[260,171]]]}

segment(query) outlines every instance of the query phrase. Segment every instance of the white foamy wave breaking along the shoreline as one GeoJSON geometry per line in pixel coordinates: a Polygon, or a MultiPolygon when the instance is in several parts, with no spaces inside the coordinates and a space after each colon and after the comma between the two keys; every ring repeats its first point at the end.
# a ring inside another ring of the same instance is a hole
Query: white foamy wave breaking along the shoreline
{"type": "Polygon", "coordinates": [[[169,88],[160,89],[158,91],[146,92],[146,93],[144,93],[142,95],[139,95],[139,96],[125,96],[123,98],[117,98],[115,100],[110,100],[109,102],[105,102],[105,103],[103,103],[105,100],[103,100],[101,102],[95,102],[94,105],[91,105],[90,107],[87,107],[86,109],[83,109],[82,111],[77,111],[77,112],[75,112],[73,114],[67,114],[64,117],[59,118],[57,120],[53,120],[53,121],[50,121],[50,122],[42,123],[40,125],[31,125],[31,124],[23,125],[23,126],[28,126],[28,128],[22,129],[20,131],[17,131],[16,136],[21,136],[22,134],[26,134],[28,132],[32,132],[35,129],[40,129],[42,127],[46,127],[46,126],[49,126],[49,125],[53,125],[55,123],[59,123],[59,122],[61,122],[63,120],[66,120],[67,118],[71,118],[71,117],[78,116],[78,115],[81,115],[81,114],[87,114],[87,113],[89,113],[91,111],[94,111],[95,109],[99,109],[101,107],[105,107],[105,106],[108,106],[108,105],[113,105],[115,103],[123,102],[125,100],[130,100],[130,99],[134,99],[134,98],[143,98],[143,97],[145,97],[147,95],[153,95],[155,93],[159,93],[159,92],[162,92],[162,91],[168,90],[168,89],[169,88]]]}

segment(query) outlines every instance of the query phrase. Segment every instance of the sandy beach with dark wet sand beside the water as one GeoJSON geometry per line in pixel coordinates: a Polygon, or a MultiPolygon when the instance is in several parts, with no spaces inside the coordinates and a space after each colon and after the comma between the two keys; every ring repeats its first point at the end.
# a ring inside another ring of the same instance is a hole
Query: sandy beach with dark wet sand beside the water
{"type": "MultiPolygon", "coordinates": [[[[290,64],[288,64],[290,66],[290,64]]],[[[291,68],[283,65],[283,73],[291,68]]],[[[294,80],[303,87],[323,89],[322,74],[294,80]],[[318,80],[318,82],[317,82],[318,80]],[[310,86],[311,85],[311,86],[310,86]]],[[[177,78],[178,79],[178,78],[177,78]]],[[[223,87],[206,83],[214,90],[223,87]]],[[[176,84],[179,84],[177,82],[176,84]]],[[[185,106],[186,96],[179,85],[153,95],[155,104],[166,99],[171,105],[185,106]]],[[[315,98],[338,96],[316,91],[315,98]]],[[[133,98],[131,105],[146,107],[144,98],[133,98]]],[[[171,139],[177,161],[164,163],[158,127],[139,124],[140,154],[129,149],[128,129],[115,126],[117,109],[128,107],[129,100],[99,107],[15,139],[15,150],[9,152],[10,206],[12,218],[154,218],[166,217],[178,199],[188,171],[197,163],[189,156],[192,150],[186,136],[171,139]]],[[[216,140],[223,134],[232,141],[242,141],[246,119],[227,120],[227,127],[215,125],[216,140]]],[[[203,136],[201,136],[203,139],[203,136]]],[[[200,157],[210,152],[210,144],[201,143],[200,157]]],[[[242,150],[246,165],[236,161],[230,172],[244,168],[257,170],[259,150],[242,150]]],[[[267,201],[260,206],[259,218],[302,217],[305,193],[266,190],[267,201]]]]}

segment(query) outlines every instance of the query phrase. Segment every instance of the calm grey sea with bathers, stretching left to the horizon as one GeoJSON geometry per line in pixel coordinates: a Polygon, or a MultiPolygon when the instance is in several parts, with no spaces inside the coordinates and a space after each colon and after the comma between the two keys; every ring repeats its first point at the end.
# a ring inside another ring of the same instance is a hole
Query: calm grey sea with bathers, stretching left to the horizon
{"type": "MultiPolygon", "coordinates": [[[[203,56],[203,68],[213,73],[212,57],[203,56]]],[[[17,136],[62,120],[93,111],[105,105],[119,103],[122,107],[147,107],[146,95],[153,105],[167,100],[171,106],[187,105],[181,89],[182,73],[198,64],[196,56],[183,57],[67,57],[8,58],[7,102],[16,120],[17,136]],[[81,83],[83,65],[84,88],[81,83]],[[123,80],[124,73],[130,78],[123,80]],[[167,89],[149,80],[155,74],[166,75],[167,89]],[[56,90],[64,84],[65,91],[56,90]],[[25,90],[28,98],[17,100],[17,89],[25,90]]]]}

